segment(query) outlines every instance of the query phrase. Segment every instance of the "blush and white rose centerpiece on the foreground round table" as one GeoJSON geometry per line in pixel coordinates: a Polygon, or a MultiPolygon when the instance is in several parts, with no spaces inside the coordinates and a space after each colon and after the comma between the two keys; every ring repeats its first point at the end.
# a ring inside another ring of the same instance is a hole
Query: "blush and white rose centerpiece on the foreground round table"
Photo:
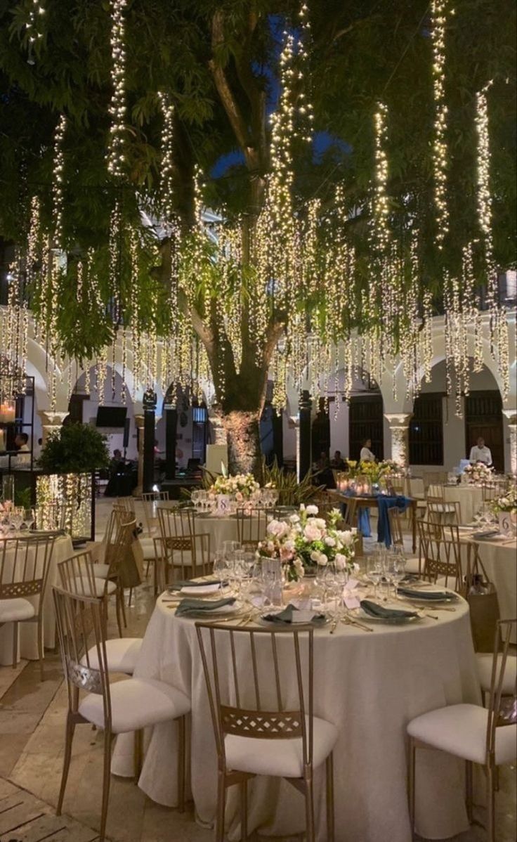
{"type": "Polygon", "coordinates": [[[338,509],[332,509],[327,521],[317,514],[317,506],[302,504],[288,519],[271,520],[264,541],[259,542],[259,555],[280,559],[290,582],[329,563],[349,573],[358,567],[354,563],[357,530],[338,529],[342,519],[338,509]]]}

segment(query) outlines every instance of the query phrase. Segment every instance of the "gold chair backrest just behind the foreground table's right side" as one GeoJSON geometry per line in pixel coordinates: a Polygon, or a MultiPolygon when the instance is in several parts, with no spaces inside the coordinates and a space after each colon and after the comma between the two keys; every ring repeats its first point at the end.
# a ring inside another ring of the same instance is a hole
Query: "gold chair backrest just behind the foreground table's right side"
{"type": "Polygon", "coordinates": [[[424,578],[436,582],[445,578],[445,587],[461,590],[461,545],[458,527],[429,520],[418,520],[419,554],[424,578]]]}

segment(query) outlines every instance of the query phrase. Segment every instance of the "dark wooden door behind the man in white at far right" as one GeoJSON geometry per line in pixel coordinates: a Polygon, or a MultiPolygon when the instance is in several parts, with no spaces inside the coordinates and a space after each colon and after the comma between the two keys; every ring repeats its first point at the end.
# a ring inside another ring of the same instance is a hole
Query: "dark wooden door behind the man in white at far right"
{"type": "Polygon", "coordinates": [[[479,436],[492,453],[496,471],[504,471],[503,402],[497,389],[471,392],[465,397],[465,453],[471,452],[479,436]]]}

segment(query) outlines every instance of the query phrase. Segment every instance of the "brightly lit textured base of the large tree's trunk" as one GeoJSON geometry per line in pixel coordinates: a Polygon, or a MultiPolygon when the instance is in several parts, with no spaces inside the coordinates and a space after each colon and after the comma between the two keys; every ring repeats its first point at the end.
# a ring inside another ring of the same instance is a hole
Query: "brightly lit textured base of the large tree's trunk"
{"type": "Polygon", "coordinates": [[[252,473],[262,482],[259,413],[233,411],[220,418],[227,434],[228,473],[252,473]]]}

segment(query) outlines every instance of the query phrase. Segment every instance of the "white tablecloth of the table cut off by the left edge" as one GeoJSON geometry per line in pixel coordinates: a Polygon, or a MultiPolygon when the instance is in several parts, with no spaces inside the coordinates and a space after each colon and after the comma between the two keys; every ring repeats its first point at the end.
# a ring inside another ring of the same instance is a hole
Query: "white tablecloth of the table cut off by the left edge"
{"type": "MultiPolygon", "coordinates": [[[[49,649],[56,645],[56,615],[52,597],[52,585],[57,584],[57,565],[74,553],[72,538],[68,535],[56,538],[51,556],[46,591],[43,597],[43,645],[49,649]]],[[[39,597],[31,598],[38,600],[39,597]]],[[[37,605],[37,602],[36,602],[37,605]]],[[[38,658],[37,623],[19,623],[19,658],[36,660],[38,658]]],[[[0,628],[0,664],[13,663],[13,624],[6,623],[0,628]]]]}

